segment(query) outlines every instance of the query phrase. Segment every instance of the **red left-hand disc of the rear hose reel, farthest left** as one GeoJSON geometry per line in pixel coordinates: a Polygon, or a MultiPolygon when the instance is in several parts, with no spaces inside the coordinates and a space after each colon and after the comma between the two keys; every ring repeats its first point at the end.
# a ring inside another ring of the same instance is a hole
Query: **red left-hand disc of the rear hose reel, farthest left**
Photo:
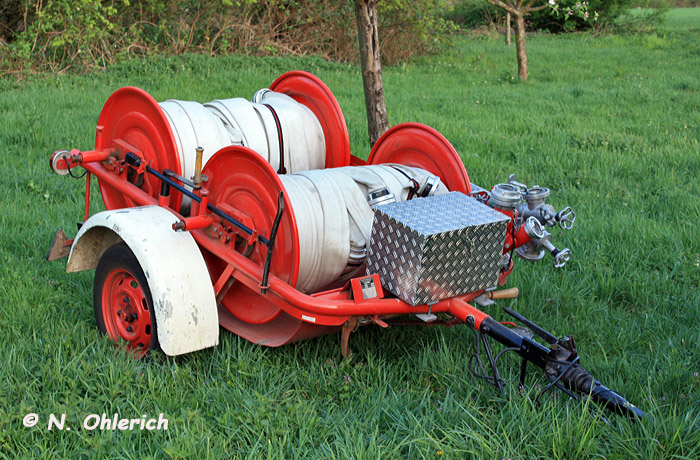
{"type": "MultiPolygon", "coordinates": [[[[172,128],[163,109],[146,91],[127,86],[116,90],[105,102],[97,122],[102,126],[102,138],[95,140],[95,148],[117,148],[116,140],[133,146],[154,169],[170,169],[182,173],[180,154],[177,151],[172,128]],[[98,145],[99,144],[99,145],[98,145]]],[[[122,155],[125,152],[120,152],[122,155]]],[[[141,188],[157,198],[160,181],[146,174],[141,188]]],[[[136,206],[119,190],[101,181],[100,192],[107,209],[136,206]]],[[[180,209],[182,195],[173,193],[170,207],[180,209]]]]}

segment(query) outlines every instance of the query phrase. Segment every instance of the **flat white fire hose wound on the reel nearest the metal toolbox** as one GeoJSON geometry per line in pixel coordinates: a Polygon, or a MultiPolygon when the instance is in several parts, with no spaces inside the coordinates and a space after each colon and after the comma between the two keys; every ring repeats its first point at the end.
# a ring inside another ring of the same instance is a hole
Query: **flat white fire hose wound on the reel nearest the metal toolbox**
{"type": "MultiPolygon", "coordinates": [[[[402,165],[349,166],[280,176],[298,226],[296,288],[313,292],[362,263],[374,219],[370,192],[386,188],[395,201],[405,201],[416,185],[421,188],[432,178],[425,170],[402,165]]],[[[436,179],[430,194],[447,193],[436,179]]]]}

